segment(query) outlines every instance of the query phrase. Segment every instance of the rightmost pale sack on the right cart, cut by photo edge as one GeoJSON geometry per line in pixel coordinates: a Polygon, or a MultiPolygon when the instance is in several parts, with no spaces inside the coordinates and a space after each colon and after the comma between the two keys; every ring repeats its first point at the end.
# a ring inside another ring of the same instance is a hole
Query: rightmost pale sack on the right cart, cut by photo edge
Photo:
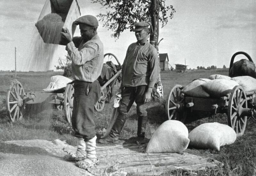
{"type": "Polygon", "coordinates": [[[244,88],[245,92],[256,90],[256,79],[251,76],[237,76],[231,78],[244,88]]]}

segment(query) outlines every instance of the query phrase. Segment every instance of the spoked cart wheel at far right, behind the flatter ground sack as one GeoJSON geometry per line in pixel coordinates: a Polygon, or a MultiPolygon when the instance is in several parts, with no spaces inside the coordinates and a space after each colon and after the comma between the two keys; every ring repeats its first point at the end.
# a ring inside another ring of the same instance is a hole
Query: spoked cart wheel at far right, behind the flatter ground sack
{"type": "Polygon", "coordinates": [[[236,131],[236,136],[244,134],[247,116],[243,115],[247,108],[246,94],[241,86],[233,88],[228,102],[228,125],[236,131]]]}

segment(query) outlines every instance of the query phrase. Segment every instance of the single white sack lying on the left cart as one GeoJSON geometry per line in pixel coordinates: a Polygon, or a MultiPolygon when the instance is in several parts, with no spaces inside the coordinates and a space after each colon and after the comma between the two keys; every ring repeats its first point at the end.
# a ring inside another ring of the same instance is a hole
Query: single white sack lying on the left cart
{"type": "Polygon", "coordinates": [[[55,89],[59,89],[59,88],[64,88],[67,86],[67,84],[69,82],[71,82],[72,80],[65,77],[65,76],[61,76],[61,75],[56,75],[56,76],[52,76],[49,80],[49,85],[47,86],[47,88],[44,88],[44,91],[47,90],[55,90],[55,89]]]}

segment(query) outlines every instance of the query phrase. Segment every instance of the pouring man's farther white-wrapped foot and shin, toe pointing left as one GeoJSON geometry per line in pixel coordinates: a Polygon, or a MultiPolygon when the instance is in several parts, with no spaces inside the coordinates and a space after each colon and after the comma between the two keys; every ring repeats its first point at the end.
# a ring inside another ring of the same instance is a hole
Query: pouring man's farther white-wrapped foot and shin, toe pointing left
{"type": "Polygon", "coordinates": [[[78,138],[76,152],[63,157],[66,161],[80,161],[86,158],[86,144],[83,138],[78,138]]]}

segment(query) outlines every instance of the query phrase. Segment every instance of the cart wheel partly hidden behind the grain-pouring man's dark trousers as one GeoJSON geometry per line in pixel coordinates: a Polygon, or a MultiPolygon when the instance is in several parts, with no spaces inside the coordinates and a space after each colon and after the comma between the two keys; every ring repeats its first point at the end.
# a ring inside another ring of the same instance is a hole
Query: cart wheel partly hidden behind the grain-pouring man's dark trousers
{"type": "Polygon", "coordinates": [[[64,114],[68,123],[71,124],[74,100],[74,85],[67,84],[64,94],[64,114]]]}

